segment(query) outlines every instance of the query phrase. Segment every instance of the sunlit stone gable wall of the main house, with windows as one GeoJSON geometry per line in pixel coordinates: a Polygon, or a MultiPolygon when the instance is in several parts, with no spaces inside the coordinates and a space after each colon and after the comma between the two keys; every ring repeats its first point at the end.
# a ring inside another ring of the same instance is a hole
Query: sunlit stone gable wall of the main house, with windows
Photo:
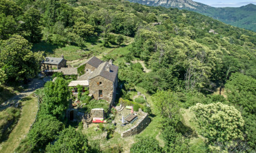
{"type": "MultiPolygon", "coordinates": [[[[102,90],[102,99],[109,101],[110,94],[113,93],[113,82],[101,77],[98,75],[97,77],[89,80],[89,92],[93,94],[93,97],[98,100],[99,99],[99,90],[102,90]],[[98,85],[97,83],[100,83],[98,85]]],[[[110,103],[112,101],[109,101],[110,103]]]]}

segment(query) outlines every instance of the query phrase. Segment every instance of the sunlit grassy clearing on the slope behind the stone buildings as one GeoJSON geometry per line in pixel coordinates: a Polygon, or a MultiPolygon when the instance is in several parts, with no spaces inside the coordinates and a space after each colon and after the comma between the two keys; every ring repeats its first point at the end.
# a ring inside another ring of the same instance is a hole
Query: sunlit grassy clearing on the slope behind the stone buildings
{"type": "Polygon", "coordinates": [[[125,37],[123,44],[118,47],[118,44],[110,44],[109,47],[103,46],[103,38],[91,42],[88,40],[83,48],[74,45],[58,46],[45,41],[34,43],[33,52],[44,51],[46,56],[60,57],[61,55],[68,61],[82,60],[88,56],[98,56],[102,58],[106,54],[111,54],[114,58],[128,52],[127,45],[133,41],[133,38],[125,37]],[[112,53],[113,52],[113,53],[112,53]]]}

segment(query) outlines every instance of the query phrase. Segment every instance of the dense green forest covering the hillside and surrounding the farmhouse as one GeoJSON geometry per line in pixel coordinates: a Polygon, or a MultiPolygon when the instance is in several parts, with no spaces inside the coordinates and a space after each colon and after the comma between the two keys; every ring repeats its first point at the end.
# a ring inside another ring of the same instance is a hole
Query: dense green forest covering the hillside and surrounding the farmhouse
{"type": "MultiPolygon", "coordinates": [[[[0,34],[1,86],[36,77],[41,60],[49,55],[34,49],[38,43],[86,50],[89,42],[99,39],[104,49],[113,43],[123,47],[124,38],[133,39],[124,45],[125,53],[102,57],[119,66],[119,84],[124,85],[119,96],[129,101],[131,91],[143,89],[153,101],[152,111],[143,111],[159,118],[155,129],[160,136],[136,137],[131,152],[256,149],[254,32],[191,11],[122,0],[0,0],[0,34]],[[149,71],[133,64],[135,60],[143,61],[149,71]],[[195,116],[191,120],[195,128],[184,125],[182,115],[188,109],[195,116]],[[202,141],[193,141],[198,136],[202,141]]],[[[88,52],[84,57],[97,54],[88,52]]],[[[76,130],[63,120],[70,98],[68,81],[60,77],[38,91],[44,103],[15,152],[102,151],[79,130],[80,125],[76,130]]]]}

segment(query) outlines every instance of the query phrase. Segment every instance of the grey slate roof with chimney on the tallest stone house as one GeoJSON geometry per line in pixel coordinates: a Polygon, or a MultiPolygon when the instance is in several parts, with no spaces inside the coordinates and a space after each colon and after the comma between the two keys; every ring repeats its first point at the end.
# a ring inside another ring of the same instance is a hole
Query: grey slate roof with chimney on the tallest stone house
{"type": "Polygon", "coordinates": [[[99,65],[97,69],[95,69],[92,73],[92,75],[89,77],[89,80],[97,77],[100,75],[101,77],[108,79],[112,82],[115,82],[117,72],[118,72],[118,66],[116,65],[109,65],[110,66],[110,71],[106,71],[105,67],[108,65],[109,62],[103,62],[99,65]]]}

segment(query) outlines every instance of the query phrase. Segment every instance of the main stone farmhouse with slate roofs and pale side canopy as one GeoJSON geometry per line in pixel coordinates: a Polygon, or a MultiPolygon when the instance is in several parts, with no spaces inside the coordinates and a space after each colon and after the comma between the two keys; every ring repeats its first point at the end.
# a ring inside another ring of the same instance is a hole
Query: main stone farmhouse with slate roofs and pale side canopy
{"type": "Polygon", "coordinates": [[[90,58],[80,66],[84,67],[85,73],[76,81],[70,82],[69,87],[88,87],[90,96],[97,100],[109,101],[112,105],[116,97],[118,66],[113,65],[112,60],[104,62],[96,57],[90,58]]]}

